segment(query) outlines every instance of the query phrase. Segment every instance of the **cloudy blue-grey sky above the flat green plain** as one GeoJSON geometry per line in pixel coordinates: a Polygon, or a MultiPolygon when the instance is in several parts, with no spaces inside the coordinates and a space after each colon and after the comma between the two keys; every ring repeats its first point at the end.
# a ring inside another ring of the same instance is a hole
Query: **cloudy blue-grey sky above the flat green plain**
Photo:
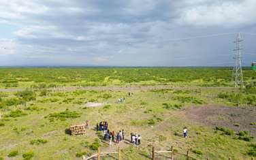
{"type": "Polygon", "coordinates": [[[0,0],[0,66],[256,61],[255,0],[0,0]]]}

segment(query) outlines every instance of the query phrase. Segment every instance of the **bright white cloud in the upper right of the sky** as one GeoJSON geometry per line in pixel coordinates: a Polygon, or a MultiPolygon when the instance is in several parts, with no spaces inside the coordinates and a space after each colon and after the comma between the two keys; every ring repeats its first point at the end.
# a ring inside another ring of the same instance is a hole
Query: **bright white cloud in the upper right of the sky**
{"type": "Polygon", "coordinates": [[[233,27],[256,22],[256,1],[216,1],[189,5],[180,10],[180,25],[233,27]]]}

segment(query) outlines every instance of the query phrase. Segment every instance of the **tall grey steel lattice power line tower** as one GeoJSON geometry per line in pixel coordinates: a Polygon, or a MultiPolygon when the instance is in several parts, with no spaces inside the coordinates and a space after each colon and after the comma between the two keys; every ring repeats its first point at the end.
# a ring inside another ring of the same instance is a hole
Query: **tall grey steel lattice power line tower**
{"type": "Polygon", "coordinates": [[[241,44],[240,42],[242,42],[240,33],[238,33],[236,35],[236,41],[234,42],[236,44],[236,48],[234,49],[235,52],[235,65],[234,65],[234,69],[233,69],[233,76],[232,76],[232,80],[235,84],[235,87],[237,86],[244,86],[244,80],[242,78],[242,57],[241,57],[241,44]]]}

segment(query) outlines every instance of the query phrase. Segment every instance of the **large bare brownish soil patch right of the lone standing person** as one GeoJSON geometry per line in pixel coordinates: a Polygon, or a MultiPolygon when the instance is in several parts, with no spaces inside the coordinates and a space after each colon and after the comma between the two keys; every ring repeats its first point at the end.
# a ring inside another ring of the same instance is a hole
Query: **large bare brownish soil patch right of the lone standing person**
{"type": "Polygon", "coordinates": [[[189,121],[195,120],[212,127],[227,127],[234,131],[250,131],[256,138],[256,108],[238,108],[224,106],[195,107],[185,110],[189,121]],[[238,124],[238,126],[235,126],[238,124]]]}

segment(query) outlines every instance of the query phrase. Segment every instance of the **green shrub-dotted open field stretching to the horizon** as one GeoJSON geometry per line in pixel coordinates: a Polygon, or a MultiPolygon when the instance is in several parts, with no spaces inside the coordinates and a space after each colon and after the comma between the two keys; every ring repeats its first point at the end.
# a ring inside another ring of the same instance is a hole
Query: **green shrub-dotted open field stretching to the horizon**
{"type": "Polygon", "coordinates": [[[256,72],[249,69],[244,89],[233,87],[230,68],[0,68],[0,77],[0,159],[82,159],[97,146],[120,146],[123,159],[149,159],[152,146],[189,149],[197,159],[256,156],[256,72]],[[68,134],[86,120],[85,135],[68,134]],[[127,140],[108,146],[95,131],[100,121],[125,129],[127,140]],[[129,143],[131,132],[142,135],[141,146],[129,143]]]}

